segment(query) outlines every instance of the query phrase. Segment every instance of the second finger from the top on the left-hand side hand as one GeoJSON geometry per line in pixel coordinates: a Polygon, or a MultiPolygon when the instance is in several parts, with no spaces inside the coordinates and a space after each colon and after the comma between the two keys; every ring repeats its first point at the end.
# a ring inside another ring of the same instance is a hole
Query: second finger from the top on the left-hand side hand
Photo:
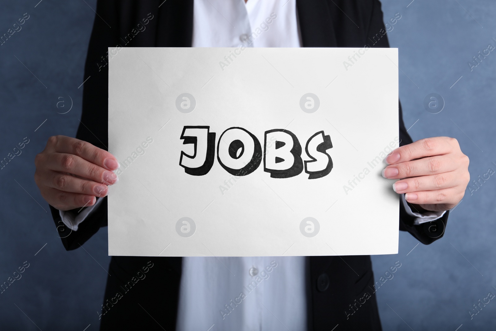
{"type": "Polygon", "coordinates": [[[64,153],[50,153],[46,166],[57,172],[66,172],[93,182],[112,185],[119,180],[112,171],[88,162],[79,156],[64,153]]]}

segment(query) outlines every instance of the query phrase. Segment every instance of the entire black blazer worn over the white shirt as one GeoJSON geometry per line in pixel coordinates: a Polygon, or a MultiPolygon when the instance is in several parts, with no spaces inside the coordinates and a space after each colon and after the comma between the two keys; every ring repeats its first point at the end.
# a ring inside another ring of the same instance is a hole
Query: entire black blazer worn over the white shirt
{"type": "MultiPolygon", "coordinates": [[[[389,47],[387,35],[382,35],[385,28],[378,0],[296,1],[304,47],[389,47]]],[[[107,47],[190,47],[193,0],[99,0],[96,11],[84,70],[84,79],[91,78],[84,83],[82,124],[76,138],[107,149],[107,47]],[[125,39],[143,18],[151,15],[144,31],[125,39]]],[[[403,124],[401,106],[399,137],[400,145],[412,142],[403,124]]],[[[107,198],[104,199],[79,230],[72,232],[51,206],[66,250],[78,248],[107,225],[107,198]]],[[[371,210],[374,212],[380,210],[371,210]]],[[[448,212],[427,225],[413,225],[412,217],[400,203],[399,229],[430,244],[442,237],[447,217],[448,212]]],[[[309,330],[332,330],[337,324],[339,330],[381,330],[370,256],[308,257],[306,265],[309,330]],[[363,305],[357,304],[365,292],[372,298],[363,305]]],[[[113,257],[101,330],[175,330],[181,271],[182,258],[113,257]],[[126,291],[124,285],[148,261],[154,265],[147,273],[148,280],[126,291]],[[117,292],[123,298],[114,305],[111,301],[117,292]]]]}

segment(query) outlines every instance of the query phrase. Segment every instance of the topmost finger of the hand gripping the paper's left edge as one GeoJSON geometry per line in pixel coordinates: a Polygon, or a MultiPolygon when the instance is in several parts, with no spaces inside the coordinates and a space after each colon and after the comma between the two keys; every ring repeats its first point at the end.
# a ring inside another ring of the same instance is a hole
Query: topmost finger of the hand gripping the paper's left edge
{"type": "Polygon", "coordinates": [[[65,135],[56,135],[50,139],[55,152],[77,155],[107,170],[116,170],[120,166],[114,155],[89,142],[65,135]]]}

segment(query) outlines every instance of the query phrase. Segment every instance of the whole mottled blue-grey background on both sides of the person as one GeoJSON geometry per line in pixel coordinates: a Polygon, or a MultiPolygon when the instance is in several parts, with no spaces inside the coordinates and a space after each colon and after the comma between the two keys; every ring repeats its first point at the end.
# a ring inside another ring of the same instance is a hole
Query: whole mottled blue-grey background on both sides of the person
{"type": "MultiPolygon", "coordinates": [[[[24,13],[30,15],[22,30],[0,46],[0,159],[29,138],[22,154],[0,170],[0,283],[29,263],[22,278],[0,294],[2,330],[83,330],[88,325],[87,330],[98,330],[110,260],[107,229],[84,249],[66,252],[33,180],[34,157],[48,137],[74,136],[79,124],[78,86],[96,8],[95,0],[86,2],[2,3],[0,35],[24,13]],[[69,96],[72,110],[58,114],[68,110],[69,96]]],[[[489,168],[496,171],[496,52],[472,71],[468,65],[488,44],[496,46],[494,0],[382,2],[384,21],[401,14],[388,37],[391,47],[399,48],[400,99],[405,125],[413,125],[409,133],[414,140],[456,137],[470,157],[472,180],[489,168]],[[438,114],[423,106],[430,93],[444,99],[438,114]]],[[[402,264],[377,291],[384,330],[495,330],[494,300],[473,319],[469,314],[479,299],[496,293],[493,177],[477,191],[467,189],[441,240],[417,246],[411,235],[400,233],[398,255],[372,258],[376,280],[396,261],[402,264]]]]}

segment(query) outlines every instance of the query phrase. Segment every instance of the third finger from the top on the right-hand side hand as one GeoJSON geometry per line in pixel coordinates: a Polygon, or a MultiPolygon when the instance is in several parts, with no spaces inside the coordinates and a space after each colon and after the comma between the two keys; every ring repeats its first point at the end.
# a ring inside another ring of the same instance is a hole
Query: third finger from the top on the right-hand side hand
{"type": "Polygon", "coordinates": [[[396,193],[433,191],[448,189],[461,184],[462,180],[460,180],[459,176],[456,176],[456,172],[450,171],[442,174],[403,179],[393,184],[393,190],[396,193]]]}

